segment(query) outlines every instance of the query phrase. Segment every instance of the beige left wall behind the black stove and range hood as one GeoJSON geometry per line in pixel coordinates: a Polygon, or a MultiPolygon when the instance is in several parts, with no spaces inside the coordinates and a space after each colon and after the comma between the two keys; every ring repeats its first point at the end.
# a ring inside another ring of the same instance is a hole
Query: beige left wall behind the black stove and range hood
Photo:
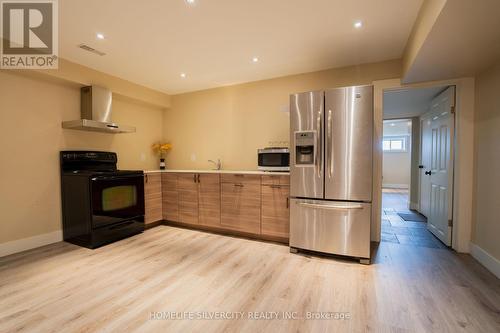
{"type": "Polygon", "coordinates": [[[114,120],[133,134],[63,130],[80,117],[79,86],[0,71],[0,244],[61,229],[58,152],[116,151],[121,168],[157,168],[150,145],[162,138],[163,111],[114,98],[114,120]]]}

